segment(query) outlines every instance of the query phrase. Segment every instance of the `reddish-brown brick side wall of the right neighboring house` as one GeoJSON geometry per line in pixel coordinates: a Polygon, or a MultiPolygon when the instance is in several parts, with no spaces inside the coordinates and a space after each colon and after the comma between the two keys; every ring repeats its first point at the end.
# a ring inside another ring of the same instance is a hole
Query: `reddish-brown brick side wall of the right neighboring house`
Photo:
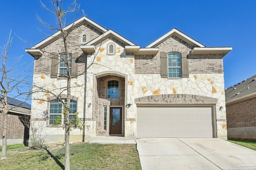
{"type": "Polygon", "coordinates": [[[256,126],[256,97],[226,105],[227,126],[256,126]]]}

